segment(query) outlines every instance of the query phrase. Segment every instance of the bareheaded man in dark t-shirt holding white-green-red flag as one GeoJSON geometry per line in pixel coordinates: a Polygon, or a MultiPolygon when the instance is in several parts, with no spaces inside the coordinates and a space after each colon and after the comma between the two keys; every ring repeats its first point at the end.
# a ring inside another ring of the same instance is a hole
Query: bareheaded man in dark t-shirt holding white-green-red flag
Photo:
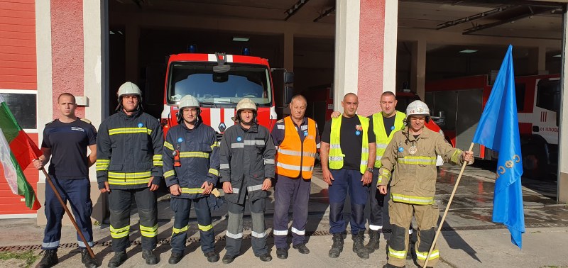
{"type": "MultiPolygon", "coordinates": [[[[45,125],[43,155],[33,160],[36,169],[42,169],[50,158],[49,175],[65,203],[69,201],[77,225],[89,245],[93,246],[91,223],[92,202],[89,167],[97,160],[97,130],[87,119],[75,116],[75,96],[63,93],[58,97],[59,119],[45,125]],[[87,147],[91,154],[87,156],[87,147]]],[[[45,234],[41,245],[44,255],[36,267],[52,267],[58,263],[57,251],[61,238],[61,220],[64,208],[51,187],[45,187],[45,234]]],[[[97,260],[87,252],[77,234],[81,260],[85,267],[97,267],[97,260]]]]}

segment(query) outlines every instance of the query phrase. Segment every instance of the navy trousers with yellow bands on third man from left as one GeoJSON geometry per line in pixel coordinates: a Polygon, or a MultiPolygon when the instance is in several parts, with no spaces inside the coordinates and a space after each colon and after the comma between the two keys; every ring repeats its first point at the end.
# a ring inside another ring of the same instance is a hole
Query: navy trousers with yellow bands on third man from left
{"type": "Polygon", "coordinates": [[[211,211],[209,210],[209,202],[207,200],[207,196],[198,199],[171,197],[170,207],[175,213],[171,241],[172,253],[183,253],[185,250],[191,203],[193,203],[195,214],[197,215],[197,228],[200,229],[201,250],[203,253],[207,253],[215,249],[215,235],[213,233],[211,211]]]}

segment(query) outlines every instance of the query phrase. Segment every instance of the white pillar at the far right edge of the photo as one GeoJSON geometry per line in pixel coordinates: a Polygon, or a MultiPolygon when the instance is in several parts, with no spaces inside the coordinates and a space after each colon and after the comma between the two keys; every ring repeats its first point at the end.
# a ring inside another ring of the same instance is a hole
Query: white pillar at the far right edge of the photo
{"type": "Polygon", "coordinates": [[[559,111],[560,125],[558,137],[558,203],[568,203],[568,166],[562,164],[568,160],[568,116],[564,111],[568,111],[568,13],[564,9],[564,19],[562,20],[563,40],[562,40],[562,91],[560,94],[561,108],[559,111]]]}

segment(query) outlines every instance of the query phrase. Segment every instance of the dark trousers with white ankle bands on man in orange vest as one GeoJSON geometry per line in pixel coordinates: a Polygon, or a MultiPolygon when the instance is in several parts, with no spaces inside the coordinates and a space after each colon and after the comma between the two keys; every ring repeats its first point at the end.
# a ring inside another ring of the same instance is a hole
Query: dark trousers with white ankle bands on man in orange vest
{"type": "Polygon", "coordinates": [[[291,179],[278,175],[274,187],[274,245],[276,248],[288,248],[288,210],[293,209],[292,244],[304,242],[307,223],[307,203],[310,199],[312,183],[310,179],[291,179]]]}

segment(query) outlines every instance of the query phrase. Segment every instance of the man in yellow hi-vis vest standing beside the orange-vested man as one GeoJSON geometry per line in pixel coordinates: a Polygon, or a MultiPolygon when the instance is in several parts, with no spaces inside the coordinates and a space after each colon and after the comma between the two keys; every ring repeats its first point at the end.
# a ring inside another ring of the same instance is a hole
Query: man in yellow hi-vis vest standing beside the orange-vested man
{"type": "Polygon", "coordinates": [[[356,114],[359,106],[356,94],[346,94],[342,106],[343,116],[327,121],[320,150],[324,181],[329,184],[329,233],[333,235],[329,257],[337,258],[343,250],[346,222],[342,212],[349,191],[353,251],[368,259],[363,244],[364,209],[376,159],[375,135],[368,118],[356,114]]]}

